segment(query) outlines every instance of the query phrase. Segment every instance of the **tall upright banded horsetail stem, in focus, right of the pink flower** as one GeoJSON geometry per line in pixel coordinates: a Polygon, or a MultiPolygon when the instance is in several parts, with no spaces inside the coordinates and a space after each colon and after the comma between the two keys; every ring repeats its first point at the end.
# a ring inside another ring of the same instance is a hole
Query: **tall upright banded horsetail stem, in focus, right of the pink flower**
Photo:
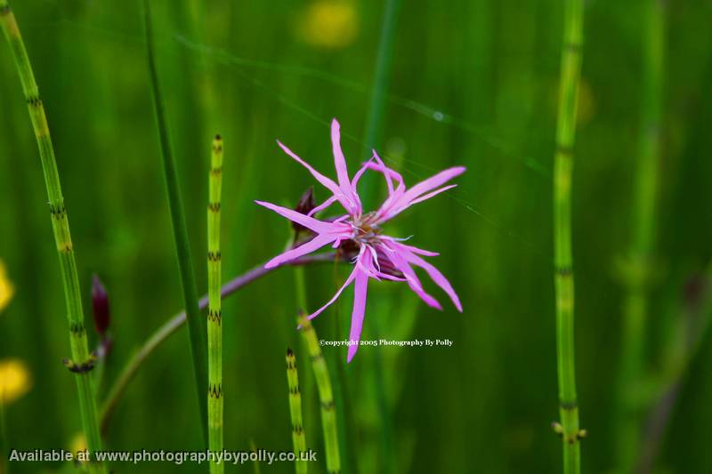
{"type": "Polygon", "coordinates": [[[574,280],[571,257],[571,173],[583,45],[583,1],[565,0],[559,110],[554,157],[554,283],[559,412],[555,430],[562,436],[563,472],[580,472],[576,366],[574,363],[574,280]]]}

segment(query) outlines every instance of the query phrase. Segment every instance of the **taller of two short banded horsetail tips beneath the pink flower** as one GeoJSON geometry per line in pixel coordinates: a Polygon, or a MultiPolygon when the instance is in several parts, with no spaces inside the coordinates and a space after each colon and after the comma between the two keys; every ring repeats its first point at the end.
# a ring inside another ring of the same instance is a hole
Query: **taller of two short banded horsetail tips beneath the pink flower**
{"type": "Polygon", "coordinates": [[[312,322],[304,317],[300,312],[297,317],[299,325],[302,326],[302,335],[309,349],[309,357],[312,358],[312,370],[314,378],[317,380],[317,390],[321,406],[321,429],[324,432],[324,445],[327,455],[327,472],[336,474],[341,472],[341,461],[339,459],[339,440],[336,429],[336,406],[334,404],[334,394],[331,391],[331,380],[328,376],[327,361],[321,353],[317,333],[314,331],[312,322]]]}

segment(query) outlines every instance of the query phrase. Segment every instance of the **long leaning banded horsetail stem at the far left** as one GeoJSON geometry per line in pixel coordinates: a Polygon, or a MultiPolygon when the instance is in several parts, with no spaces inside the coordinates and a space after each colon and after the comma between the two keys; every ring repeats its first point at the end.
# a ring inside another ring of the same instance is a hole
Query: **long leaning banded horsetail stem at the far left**
{"type": "MultiPolygon", "coordinates": [[[[39,89],[35,82],[35,74],[29,62],[25,44],[20,36],[15,16],[7,0],[0,0],[0,25],[2,25],[5,39],[12,49],[12,58],[15,62],[22,92],[28,103],[29,118],[35,129],[35,137],[39,148],[39,157],[42,161],[44,184],[49,197],[50,213],[54,243],[60,258],[64,297],[67,305],[67,319],[69,320],[69,341],[72,360],[66,365],[75,373],[77,392],[79,394],[79,410],[86,437],[87,448],[90,453],[101,451],[101,437],[96,411],[90,370],[93,367],[93,358],[89,354],[84,325],[84,310],[82,308],[82,294],[77,276],[77,261],[74,258],[72,239],[69,233],[69,218],[61,193],[60,175],[57,171],[57,162],[54,158],[54,148],[50,137],[47,117],[44,106],[39,97],[39,89]]],[[[105,472],[103,463],[91,462],[89,469],[94,472],[105,472]]]]}

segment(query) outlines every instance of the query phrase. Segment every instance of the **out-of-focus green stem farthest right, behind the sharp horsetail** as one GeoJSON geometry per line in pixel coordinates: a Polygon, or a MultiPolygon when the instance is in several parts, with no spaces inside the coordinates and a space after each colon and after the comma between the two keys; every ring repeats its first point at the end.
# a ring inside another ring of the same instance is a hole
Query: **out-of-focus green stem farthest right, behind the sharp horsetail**
{"type": "Polygon", "coordinates": [[[626,289],[621,334],[617,417],[617,465],[622,472],[634,468],[642,434],[642,399],[635,388],[643,380],[643,359],[656,228],[656,197],[660,157],[660,117],[663,96],[665,42],[664,4],[646,0],[643,6],[643,110],[640,150],[635,169],[635,195],[631,213],[632,236],[624,268],[626,289]]]}

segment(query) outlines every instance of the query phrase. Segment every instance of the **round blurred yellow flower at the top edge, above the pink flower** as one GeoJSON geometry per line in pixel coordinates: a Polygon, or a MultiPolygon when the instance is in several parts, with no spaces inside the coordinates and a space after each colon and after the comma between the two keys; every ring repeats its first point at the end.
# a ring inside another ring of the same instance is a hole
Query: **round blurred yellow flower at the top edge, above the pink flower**
{"type": "Polygon", "coordinates": [[[344,48],[359,34],[359,15],[351,2],[316,0],[299,15],[297,33],[312,46],[344,48]]]}

